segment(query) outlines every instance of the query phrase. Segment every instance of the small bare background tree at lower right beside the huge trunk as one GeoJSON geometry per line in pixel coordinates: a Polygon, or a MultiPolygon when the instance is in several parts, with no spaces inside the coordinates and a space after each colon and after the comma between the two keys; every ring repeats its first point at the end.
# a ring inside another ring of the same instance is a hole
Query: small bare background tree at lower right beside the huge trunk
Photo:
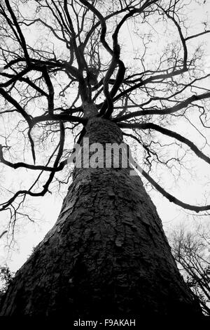
{"type": "Polygon", "coordinates": [[[200,224],[194,230],[187,230],[181,225],[173,230],[169,239],[179,270],[190,289],[199,298],[204,314],[208,316],[210,316],[209,238],[209,228],[200,224]]]}

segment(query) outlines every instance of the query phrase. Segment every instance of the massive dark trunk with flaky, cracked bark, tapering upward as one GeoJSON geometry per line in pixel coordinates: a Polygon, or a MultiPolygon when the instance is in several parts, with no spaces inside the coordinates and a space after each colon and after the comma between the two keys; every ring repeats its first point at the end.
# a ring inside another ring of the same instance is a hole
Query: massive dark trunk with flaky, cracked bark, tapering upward
{"type": "MultiPolygon", "coordinates": [[[[90,143],[121,143],[92,118],[90,143]]],[[[76,169],[57,223],[18,270],[1,315],[200,315],[162,223],[130,169],[76,169]]]]}

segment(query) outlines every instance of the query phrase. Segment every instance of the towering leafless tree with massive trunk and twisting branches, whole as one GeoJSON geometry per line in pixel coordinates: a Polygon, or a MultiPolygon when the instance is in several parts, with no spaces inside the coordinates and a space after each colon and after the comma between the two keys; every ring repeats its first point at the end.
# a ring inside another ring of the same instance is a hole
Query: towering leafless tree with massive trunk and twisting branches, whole
{"type": "Polygon", "coordinates": [[[182,202],[150,173],[155,162],[183,168],[189,152],[210,163],[204,148],[176,131],[176,121],[194,112],[208,128],[209,74],[196,41],[209,33],[208,22],[196,31],[186,22],[195,21],[191,9],[200,4],[1,1],[1,164],[24,176],[38,172],[29,187],[9,191],[1,204],[1,211],[10,212],[12,231],[26,216],[29,197],[72,178],[57,223],[15,275],[1,315],[200,315],[155,206],[140,177],[130,175],[136,168],[185,209],[210,209],[182,202]],[[127,31],[138,45],[132,52],[127,31]],[[111,166],[101,159],[107,145],[122,146],[123,136],[144,148],[142,167],[131,156],[123,166],[130,154],[125,145],[117,166],[114,147],[111,166]],[[86,162],[84,138],[90,145],[86,162]],[[73,171],[68,157],[75,161],[73,171]]]}

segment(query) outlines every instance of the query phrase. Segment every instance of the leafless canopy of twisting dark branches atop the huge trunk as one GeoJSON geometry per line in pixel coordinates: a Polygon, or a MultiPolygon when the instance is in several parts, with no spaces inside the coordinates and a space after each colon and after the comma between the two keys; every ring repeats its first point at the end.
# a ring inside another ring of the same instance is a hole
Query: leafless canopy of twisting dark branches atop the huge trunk
{"type": "Polygon", "coordinates": [[[156,190],[184,209],[210,209],[186,203],[155,180],[157,169],[175,178],[190,171],[189,154],[210,164],[207,6],[0,2],[1,171],[18,173],[16,190],[10,180],[1,187],[1,211],[10,213],[12,227],[29,216],[22,211],[28,197],[69,182],[67,159],[85,135],[91,103],[139,147],[141,173],[156,190]]]}

